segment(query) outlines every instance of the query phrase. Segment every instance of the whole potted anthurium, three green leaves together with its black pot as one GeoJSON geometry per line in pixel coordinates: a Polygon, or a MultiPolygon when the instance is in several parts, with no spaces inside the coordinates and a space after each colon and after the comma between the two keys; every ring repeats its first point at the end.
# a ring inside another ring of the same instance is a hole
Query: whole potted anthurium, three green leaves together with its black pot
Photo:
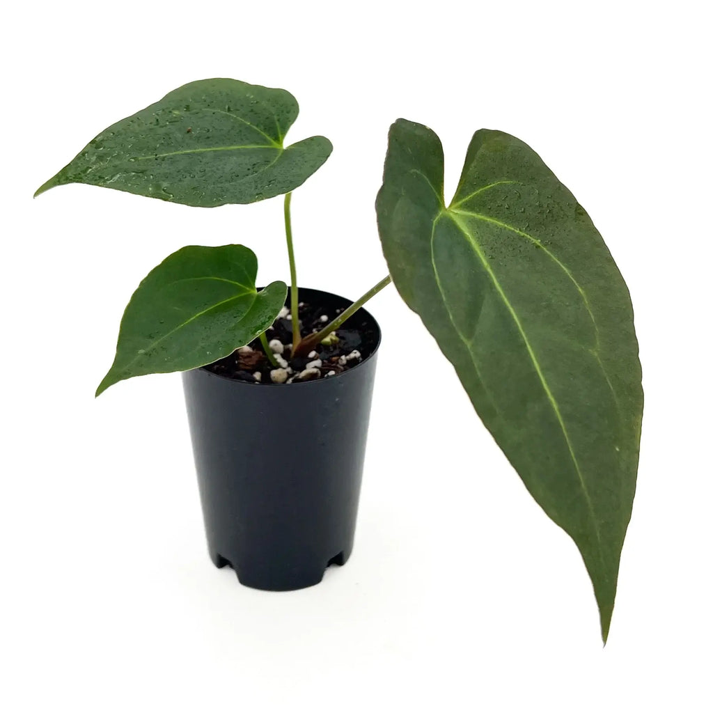
{"type": "Polygon", "coordinates": [[[133,293],[97,394],[182,371],[213,562],[257,588],[317,583],[352,549],[379,347],[363,305],[393,281],[578,546],[606,640],[643,395],[629,293],[602,237],[538,154],[500,131],[476,131],[446,203],[440,140],[399,119],[376,198],[388,275],[356,302],[298,288],[292,191],[332,145],[285,146],[297,111],[281,89],[189,83],[39,188],[87,183],[201,207],[284,195],[289,289],[258,289],[245,246],[181,248],[133,293]]]}

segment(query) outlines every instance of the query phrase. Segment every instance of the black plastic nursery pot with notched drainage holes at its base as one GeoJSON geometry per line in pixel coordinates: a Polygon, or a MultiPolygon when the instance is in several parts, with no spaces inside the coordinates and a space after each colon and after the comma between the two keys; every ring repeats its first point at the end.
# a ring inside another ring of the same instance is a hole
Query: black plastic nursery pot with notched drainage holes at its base
{"type": "MultiPolygon", "coordinates": [[[[351,302],[299,289],[324,309],[351,302]]],[[[287,297],[289,304],[289,294],[287,297]]],[[[240,583],[285,591],[322,581],[352,553],[380,331],[351,369],[293,384],[251,384],[205,368],[183,373],[208,552],[240,583]]]]}

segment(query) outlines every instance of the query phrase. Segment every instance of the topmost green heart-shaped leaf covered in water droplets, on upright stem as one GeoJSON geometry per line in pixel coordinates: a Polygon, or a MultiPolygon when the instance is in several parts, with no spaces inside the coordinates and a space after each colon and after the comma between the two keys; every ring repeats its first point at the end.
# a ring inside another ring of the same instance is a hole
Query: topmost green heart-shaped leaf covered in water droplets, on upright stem
{"type": "Polygon", "coordinates": [[[324,136],[284,148],[298,111],[284,89],[191,82],[103,130],[35,195],[88,183],[213,207],[289,193],[332,153],[324,136]]]}

